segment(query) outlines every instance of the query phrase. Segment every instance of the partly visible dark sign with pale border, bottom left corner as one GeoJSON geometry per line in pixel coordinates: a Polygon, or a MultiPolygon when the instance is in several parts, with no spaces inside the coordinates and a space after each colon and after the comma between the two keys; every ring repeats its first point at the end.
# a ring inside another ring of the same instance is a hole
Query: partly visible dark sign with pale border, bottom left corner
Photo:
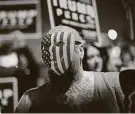
{"type": "Polygon", "coordinates": [[[18,84],[15,77],[0,78],[0,111],[13,113],[18,103],[18,84]]]}

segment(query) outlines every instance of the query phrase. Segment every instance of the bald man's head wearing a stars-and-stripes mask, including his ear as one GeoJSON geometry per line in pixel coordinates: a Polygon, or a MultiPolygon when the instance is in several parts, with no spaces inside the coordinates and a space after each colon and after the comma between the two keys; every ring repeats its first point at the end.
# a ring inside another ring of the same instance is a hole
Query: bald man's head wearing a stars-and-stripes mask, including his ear
{"type": "Polygon", "coordinates": [[[79,33],[66,26],[51,29],[41,41],[41,50],[44,63],[57,75],[64,74],[71,63],[77,67],[83,58],[79,33]]]}

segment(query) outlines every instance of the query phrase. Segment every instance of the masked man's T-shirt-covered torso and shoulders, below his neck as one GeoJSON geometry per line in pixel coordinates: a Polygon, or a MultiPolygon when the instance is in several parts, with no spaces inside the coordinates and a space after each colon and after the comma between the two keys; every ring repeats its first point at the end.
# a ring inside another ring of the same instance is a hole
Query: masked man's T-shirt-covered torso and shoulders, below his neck
{"type": "Polygon", "coordinates": [[[123,112],[124,96],[119,80],[115,80],[117,76],[118,73],[84,72],[81,82],[59,95],[52,94],[48,82],[27,91],[16,112],[123,112]]]}

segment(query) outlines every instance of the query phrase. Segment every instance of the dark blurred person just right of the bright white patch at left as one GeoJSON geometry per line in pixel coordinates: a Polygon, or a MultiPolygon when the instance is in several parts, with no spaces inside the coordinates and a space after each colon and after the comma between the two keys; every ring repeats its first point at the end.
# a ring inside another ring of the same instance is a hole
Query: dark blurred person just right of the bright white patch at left
{"type": "Polygon", "coordinates": [[[37,86],[37,78],[39,77],[39,65],[37,64],[32,51],[24,40],[18,40],[14,42],[14,48],[18,58],[18,70],[15,76],[18,79],[19,98],[28,90],[37,86]],[[20,45],[23,44],[23,45],[20,45]],[[21,47],[20,47],[21,46],[21,47]],[[24,83],[25,82],[25,83],[24,83]]]}

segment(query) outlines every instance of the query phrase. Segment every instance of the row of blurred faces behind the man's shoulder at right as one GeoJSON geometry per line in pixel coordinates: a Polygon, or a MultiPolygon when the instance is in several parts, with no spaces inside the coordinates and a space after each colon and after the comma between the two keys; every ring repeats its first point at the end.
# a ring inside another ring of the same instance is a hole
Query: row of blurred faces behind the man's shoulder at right
{"type": "Polygon", "coordinates": [[[97,47],[93,43],[85,47],[83,68],[87,71],[120,72],[135,69],[134,46],[97,47]]]}

